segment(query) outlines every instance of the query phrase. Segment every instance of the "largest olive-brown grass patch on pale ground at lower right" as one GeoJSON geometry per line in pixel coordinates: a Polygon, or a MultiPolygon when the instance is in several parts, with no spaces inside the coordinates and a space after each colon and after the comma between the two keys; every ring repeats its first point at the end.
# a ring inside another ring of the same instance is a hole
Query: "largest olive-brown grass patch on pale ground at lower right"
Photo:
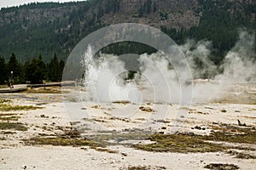
{"type": "Polygon", "coordinates": [[[194,133],[175,133],[175,134],[153,134],[149,137],[155,141],[154,144],[136,144],[135,148],[140,150],[157,151],[157,152],[216,152],[228,149],[236,149],[236,146],[226,146],[216,144],[218,142],[256,144],[255,127],[236,127],[224,125],[212,127],[210,135],[196,135],[194,133]],[[213,141],[210,142],[210,141],[213,141]]]}

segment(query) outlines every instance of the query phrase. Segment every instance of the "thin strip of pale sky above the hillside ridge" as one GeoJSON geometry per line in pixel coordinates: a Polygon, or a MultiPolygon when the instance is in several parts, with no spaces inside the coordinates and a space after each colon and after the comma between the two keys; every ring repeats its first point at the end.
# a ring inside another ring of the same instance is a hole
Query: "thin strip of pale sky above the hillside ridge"
{"type": "Polygon", "coordinates": [[[13,7],[13,6],[19,6],[26,3],[43,3],[43,2],[74,2],[74,1],[84,1],[84,0],[0,0],[0,8],[3,7],[13,7]]]}

